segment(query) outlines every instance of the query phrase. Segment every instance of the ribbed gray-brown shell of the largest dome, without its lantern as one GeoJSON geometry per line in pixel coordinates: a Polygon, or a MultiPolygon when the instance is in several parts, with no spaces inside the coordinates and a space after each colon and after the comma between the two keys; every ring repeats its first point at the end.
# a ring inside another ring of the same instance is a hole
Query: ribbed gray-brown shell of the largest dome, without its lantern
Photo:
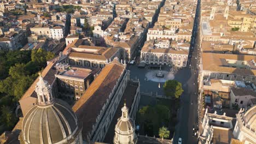
{"type": "Polygon", "coordinates": [[[22,139],[27,143],[67,142],[77,134],[78,119],[64,101],[33,106],[22,123],[22,139]]]}

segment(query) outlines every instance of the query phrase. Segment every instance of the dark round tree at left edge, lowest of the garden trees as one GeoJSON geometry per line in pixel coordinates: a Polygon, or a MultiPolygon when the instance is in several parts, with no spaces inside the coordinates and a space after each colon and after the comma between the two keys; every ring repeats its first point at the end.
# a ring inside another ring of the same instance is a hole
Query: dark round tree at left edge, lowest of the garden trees
{"type": "Polygon", "coordinates": [[[1,107],[1,121],[4,123],[8,128],[11,128],[16,123],[16,117],[14,116],[13,112],[10,110],[9,106],[2,106],[1,107]]]}

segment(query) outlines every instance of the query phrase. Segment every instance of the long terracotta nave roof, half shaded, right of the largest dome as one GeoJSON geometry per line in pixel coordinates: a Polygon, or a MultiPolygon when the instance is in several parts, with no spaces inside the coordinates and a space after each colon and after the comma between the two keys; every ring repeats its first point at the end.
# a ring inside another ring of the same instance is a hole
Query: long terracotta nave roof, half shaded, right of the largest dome
{"type": "Polygon", "coordinates": [[[97,116],[100,115],[103,105],[109,98],[109,94],[125,70],[125,66],[117,61],[114,60],[102,69],[83,96],[72,107],[80,121],[83,122],[83,139],[87,139],[92,125],[96,123],[97,116]]]}

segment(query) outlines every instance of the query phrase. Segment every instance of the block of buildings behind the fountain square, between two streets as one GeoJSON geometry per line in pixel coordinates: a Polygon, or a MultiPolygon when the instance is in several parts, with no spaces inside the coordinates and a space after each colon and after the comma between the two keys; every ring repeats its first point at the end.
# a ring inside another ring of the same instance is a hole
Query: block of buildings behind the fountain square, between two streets
{"type": "Polygon", "coordinates": [[[166,1],[160,9],[158,21],[148,29],[140,62],[186,67],[195,8],[193,1],[166,1]]]}

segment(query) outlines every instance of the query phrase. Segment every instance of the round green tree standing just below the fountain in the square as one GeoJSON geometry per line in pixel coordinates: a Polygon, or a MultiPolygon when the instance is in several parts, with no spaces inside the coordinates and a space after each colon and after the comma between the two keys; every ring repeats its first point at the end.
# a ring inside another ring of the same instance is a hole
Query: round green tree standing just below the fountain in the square
{"type": "Polygon", "coordinates": [[[179,98],[182,95],[182,83],[176,80],[168,80],[164,84],[164,92],[167,97],[179,98]]]}

